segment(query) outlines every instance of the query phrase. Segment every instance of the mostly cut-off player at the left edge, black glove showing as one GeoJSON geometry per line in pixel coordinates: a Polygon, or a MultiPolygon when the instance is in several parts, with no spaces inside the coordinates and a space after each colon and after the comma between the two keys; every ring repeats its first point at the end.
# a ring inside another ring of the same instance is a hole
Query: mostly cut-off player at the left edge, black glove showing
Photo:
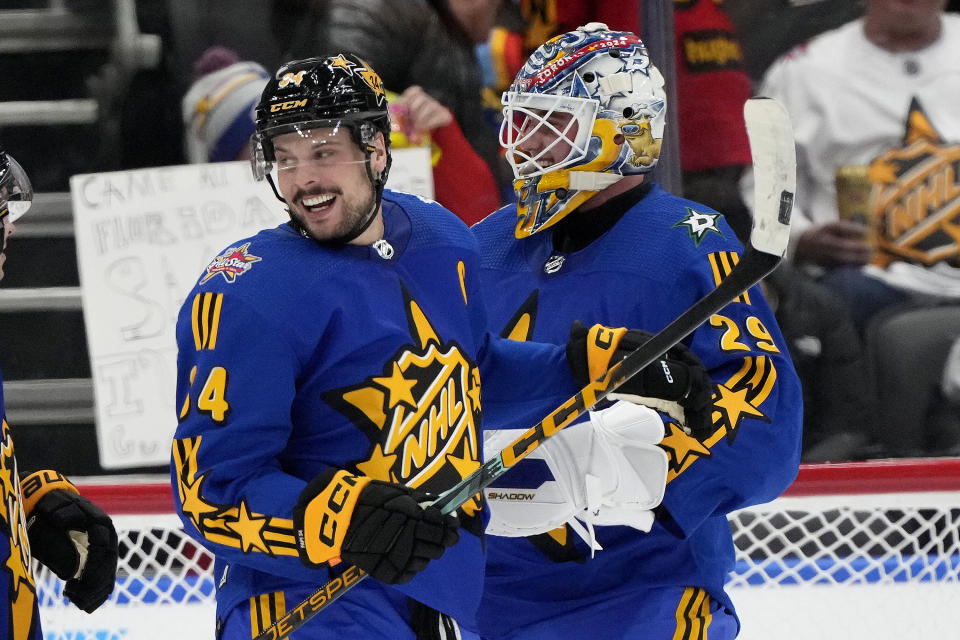
{"type": "MultiPolygon", "coordinates": [[[[0,280],[14,221],[33,202],[26,172],[0,147],[0,280]]],[[[20,477],[0,376],[0,637],[41,640],[32,561],[66,581],[63,593],[87,613],[113,591],[117,532],[110,517],[51,470],[20,477]]]]}

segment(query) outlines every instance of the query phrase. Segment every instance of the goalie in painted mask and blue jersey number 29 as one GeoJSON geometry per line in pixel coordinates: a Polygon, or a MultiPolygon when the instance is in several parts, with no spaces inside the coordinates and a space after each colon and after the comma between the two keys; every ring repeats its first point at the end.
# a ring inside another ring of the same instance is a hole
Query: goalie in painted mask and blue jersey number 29
{"type": "MultiPolygon", "coordinates": [[[[585,381],[645,340],[604,325],[662,329],[742,248],[720,213],[646,179],[666,99],[636,35],[591,23],[551,39],[503,104],[518,203],[473,229],[491,327],[597,345],[587,357],[571,351],[585,381]]],[[[623,429],[630,411],[624,421],[614,405],[592,414],[593,430],[568,427],[487,489],[485,640],[737,635],[725,516],[779,495],[800,451],[799,383],[760,290],[620,393],[657,408],[664,431],[644,419],[623,429]],[[650,451],[657,441],[663,459],[650,451]]],[[[511,426],[488,412],[488,448],[511,426]]]]}

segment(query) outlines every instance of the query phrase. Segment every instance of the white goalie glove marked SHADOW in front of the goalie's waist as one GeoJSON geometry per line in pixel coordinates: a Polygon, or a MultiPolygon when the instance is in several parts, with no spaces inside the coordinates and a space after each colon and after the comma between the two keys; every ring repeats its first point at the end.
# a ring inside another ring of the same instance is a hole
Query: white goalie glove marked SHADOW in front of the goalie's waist
{"type": "MultiPolygon", "coordinates": [[[[484,450],[496,455],[522,430],[484,433],[484,450]]],[[[594,551],[596,525],[625,525],[646,533],[663,500],[667,454],[660,415],[643,405],[618,401],[590,420],[544,442],[521,463],[542,460],[552,477],[530,486],[529,474],[507,473],[484,493],[490,507],[487,533],[521,537],[569,524],[594,551]],[[518,482],[514,486],[511,478],[518,482]]],[[[540,463],[541,465],[543,463],[540,463]]]]}

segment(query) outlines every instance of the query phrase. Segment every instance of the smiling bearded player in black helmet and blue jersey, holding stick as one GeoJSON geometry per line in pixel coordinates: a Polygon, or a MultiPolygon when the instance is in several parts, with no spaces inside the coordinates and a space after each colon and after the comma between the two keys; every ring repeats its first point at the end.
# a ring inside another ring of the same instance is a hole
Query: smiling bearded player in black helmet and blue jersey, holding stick
{"type": "Polygon", "coordinates": [[[481,379],[483,412],[529,426],[577,390],[565,349],[491,336],[470,230],[384,188],[387,103],[361,59],[284,65],[256,120],[254,172],[290,221],[216,256],[177,322],[174,500],[216,555],[218,637],[299,616],[351,565],[374,579],[294,637],[454,637],[451,618],[475,637],[486,510],[426,494],[480,464],[481,379]]]}

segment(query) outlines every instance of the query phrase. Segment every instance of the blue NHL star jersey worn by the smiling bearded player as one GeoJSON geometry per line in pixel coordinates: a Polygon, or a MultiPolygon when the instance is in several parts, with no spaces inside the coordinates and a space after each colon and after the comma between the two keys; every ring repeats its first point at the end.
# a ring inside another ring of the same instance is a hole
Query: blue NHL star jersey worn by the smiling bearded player
{"type": "MultiPolygon", "coordinates": [[[[462,222],[391,191],[383,215],[385,242],[373,246],[321,246],[289,225],[241,240],[180,312],[174,499],[216,555],[220,620],[342,571],[307,568],[294,541],[297,497],[323,470],[439,493],[482,460],[481,380],[483,409],[531,424],[576,391],[561,348],[487,334],[462,222]]],[[[408,598],[472,626],[484,516],[471,500],[441,559],[405,585],[364,581],[295,637],[412,638],[408,598]]],[[[282,602],[274,619],[296,605],[282,602]]]]}

